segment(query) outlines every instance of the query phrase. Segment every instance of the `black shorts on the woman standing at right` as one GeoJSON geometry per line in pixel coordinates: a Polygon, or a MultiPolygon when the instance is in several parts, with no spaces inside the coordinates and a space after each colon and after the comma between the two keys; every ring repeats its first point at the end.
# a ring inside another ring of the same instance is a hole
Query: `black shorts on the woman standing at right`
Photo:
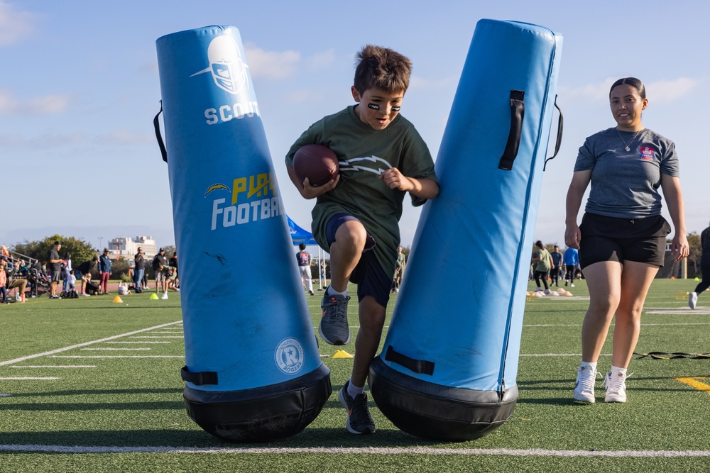
{"type": "Polygon", "coordinates": [[[582,269],[601,261],[663,266],[670,225],[660,215],[630,220],[585,213],[579,230],[582,269]]]}

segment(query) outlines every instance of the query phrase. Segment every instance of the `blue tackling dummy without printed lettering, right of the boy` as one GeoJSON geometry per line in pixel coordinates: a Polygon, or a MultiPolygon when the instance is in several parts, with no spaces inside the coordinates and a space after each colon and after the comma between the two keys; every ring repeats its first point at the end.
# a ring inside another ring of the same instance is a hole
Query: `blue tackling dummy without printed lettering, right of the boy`
{"type": "Polygon", "coordinates": [[[513,414],[561,50],[542,26],[476,25],[435,164],[441,190],[370,367],[378,408],[413,435],[471,440],[513,414]]]}

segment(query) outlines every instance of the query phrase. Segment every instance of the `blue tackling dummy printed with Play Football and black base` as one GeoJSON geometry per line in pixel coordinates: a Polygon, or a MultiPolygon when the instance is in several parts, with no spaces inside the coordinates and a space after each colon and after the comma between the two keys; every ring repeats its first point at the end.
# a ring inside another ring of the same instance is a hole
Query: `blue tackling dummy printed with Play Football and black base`
{"type": "Polygon", "coordinates": [[[182,31],[156,47],[165,143],[158,116],[153,125],[180,252],[187,413],[224,440],[293,435],[332,387],[239,30],[182,31]]]}

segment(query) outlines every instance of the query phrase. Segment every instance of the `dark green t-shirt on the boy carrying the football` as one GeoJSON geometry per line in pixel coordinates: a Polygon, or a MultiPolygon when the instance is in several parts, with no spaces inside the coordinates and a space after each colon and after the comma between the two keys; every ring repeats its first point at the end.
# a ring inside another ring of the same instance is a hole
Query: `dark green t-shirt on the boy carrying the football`
{"type": "MultiPolygon", "coordinates": [[[[437,181],[432,155],[413,124],[398,115],[384,130],[373,130],[355,114],[356,106],[326,116],[308,128],[286,155],[286,165],[293,165],[293,155],[304,145],[317,143],[332,149],[338,156],[340,181],[335,189],[319,196],[311,213],[315,240],[329,251],[325,229],[336,213],[348,213],[365,226],[375,239],[373,248],[387,274],[393,274],[400,243],[399,219],[405,192],[390,189],[378,176],[396,167],[407,177],[437,181]]],[[[425,199],[412,196],[420,206],[425,199]]]]}

